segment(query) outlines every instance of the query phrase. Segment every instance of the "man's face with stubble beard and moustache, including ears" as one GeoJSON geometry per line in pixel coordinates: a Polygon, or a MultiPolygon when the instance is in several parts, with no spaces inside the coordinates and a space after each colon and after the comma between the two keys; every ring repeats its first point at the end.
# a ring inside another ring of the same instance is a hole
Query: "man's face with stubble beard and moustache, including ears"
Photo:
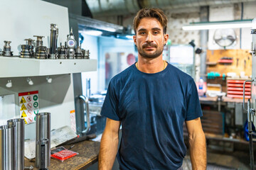
{"type": "Polygon", "coordinates": [[[145,58],[159,57],[169,35],[163,32],[161,23],[156,18],[142,18],[134,35],[139,55],[145,58]]]}

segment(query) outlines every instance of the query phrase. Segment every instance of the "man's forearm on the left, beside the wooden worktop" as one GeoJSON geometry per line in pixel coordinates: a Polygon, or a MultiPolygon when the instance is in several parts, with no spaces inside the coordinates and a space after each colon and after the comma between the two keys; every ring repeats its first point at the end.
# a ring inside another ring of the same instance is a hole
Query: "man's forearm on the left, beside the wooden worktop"
{"type": "Polygon", "coordinates": [[[118,135],[102,134],[100,141],[99,170],[112,169],[117,154],[118,135]]]}

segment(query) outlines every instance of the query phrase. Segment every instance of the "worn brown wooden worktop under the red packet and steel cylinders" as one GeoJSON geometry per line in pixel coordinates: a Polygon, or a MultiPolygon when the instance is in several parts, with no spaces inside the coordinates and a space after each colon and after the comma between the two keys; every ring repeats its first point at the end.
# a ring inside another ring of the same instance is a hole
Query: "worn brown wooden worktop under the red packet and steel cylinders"
{"type": "MultiPolygon", "coordinates": [[[[64,162],[60,162],[57,159],[51,158],[49,170],[82,170],[87,169],[89,166],[97,162],[100,152],[100,142],[85,140],[73,145],[75,145],[75,147],[70,150],[78,152],[78,155],[71,157],[70,159],[66,159],[64,162]]],[[[64,145],[63,147],[68,149],[73,145],[64,145]]],[[[34,169],[36,169],[35,161],[36,159],[32,159],[31,162],[29,162],[28,159],[25,159],[24,164],[25,166],[32,165],[34,169]]]]}

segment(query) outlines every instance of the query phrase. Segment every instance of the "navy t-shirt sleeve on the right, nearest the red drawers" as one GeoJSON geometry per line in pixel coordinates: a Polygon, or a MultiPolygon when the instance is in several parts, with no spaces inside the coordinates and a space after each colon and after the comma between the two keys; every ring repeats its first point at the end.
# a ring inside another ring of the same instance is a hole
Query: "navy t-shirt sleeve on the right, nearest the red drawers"
{"type": "Polygon", "coordinates": [[[193,120],[203,116],[196,84],[192,80],[190,85],[191,88],[188,90],[188,96],[186,96],[186,120],[193,120]]]}

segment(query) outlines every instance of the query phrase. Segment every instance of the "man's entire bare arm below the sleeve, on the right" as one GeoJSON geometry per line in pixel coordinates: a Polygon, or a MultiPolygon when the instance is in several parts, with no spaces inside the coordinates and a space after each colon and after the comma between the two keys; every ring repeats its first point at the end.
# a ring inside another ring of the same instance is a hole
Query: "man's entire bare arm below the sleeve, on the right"
{"type": "Polygon", "coordinates": [[[206,136],[200,118],[186,121],[186,128],[188,130],[192,169],[205,170],[207,164],[206,136]]]}

